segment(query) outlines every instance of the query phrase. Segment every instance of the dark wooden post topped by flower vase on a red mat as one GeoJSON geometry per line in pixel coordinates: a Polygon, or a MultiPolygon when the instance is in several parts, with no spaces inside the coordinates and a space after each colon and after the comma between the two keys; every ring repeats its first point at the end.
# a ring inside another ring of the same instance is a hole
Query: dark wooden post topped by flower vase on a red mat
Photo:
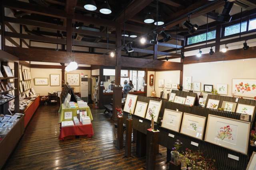
{"type": "Polygon", "coordinates": [[[151,129],[147,130],[147,155],[146,155],[146,169],[154,170],[156,164],[158,132],[153,132],[151,129]]]}

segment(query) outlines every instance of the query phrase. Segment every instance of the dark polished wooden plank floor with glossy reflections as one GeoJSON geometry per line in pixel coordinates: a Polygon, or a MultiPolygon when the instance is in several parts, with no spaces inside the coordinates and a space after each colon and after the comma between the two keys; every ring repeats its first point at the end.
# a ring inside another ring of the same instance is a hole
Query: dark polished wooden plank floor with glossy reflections
{"type": "MultiPolygon", "coordinates": [[[[136,156],[136,143],[132,144],[132,156],[123,158],[124,149],[113,144],[114,121],[103,109],[93,109],[94,136],[59,141],[59,105],[39,106],[18,147],[6,163],[5,170],[140,170],[146,166],[146,157],[136,156]]],[[[145,144],[146,145],[146,144],[145,144]]],[[[165,170],[166,148],[156,156],[156,170],[165,170]]]]}

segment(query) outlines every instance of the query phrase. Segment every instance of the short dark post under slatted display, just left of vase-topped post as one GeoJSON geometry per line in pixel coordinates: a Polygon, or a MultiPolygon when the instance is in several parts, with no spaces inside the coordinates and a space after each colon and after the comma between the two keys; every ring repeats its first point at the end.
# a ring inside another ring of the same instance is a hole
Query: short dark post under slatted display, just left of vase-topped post
{"type": "Polygon", "coordinates": [[[146,156],[146,146],[145,143],[147,142],[147,135],[144,133],[137,131],[136,132],[136,154],[139,157],[146,156]]]}

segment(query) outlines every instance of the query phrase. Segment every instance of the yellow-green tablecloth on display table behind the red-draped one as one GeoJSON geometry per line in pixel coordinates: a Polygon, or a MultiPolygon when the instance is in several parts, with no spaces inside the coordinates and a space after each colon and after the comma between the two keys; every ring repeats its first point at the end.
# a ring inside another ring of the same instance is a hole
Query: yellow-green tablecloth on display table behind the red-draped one
{"type": "Polygon", "coordinates": [[[77,110],[86,110],[87,111],[87,116],[90,117],[91,121],[93,120],[90,107],[87,106],[87,107],[70,108],[70,106],[68,104],[67,108],[64,109],[64,105],[62,104],[60,106],[59,111],[58,111],[60,113],[59,123],[61,123],[62,121],[70,121],[70,120],[73,121],[73,118],[72,119],[64,119],[64,112],[72,111],[72,117],[75,117],[75,116],[77,116],[77,114],[76,114],[77,110]]]}

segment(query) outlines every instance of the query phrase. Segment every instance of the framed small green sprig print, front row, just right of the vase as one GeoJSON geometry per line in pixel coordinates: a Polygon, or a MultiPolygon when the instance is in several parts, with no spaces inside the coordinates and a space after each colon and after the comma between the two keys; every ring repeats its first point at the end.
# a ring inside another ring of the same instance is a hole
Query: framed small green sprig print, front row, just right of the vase
{"type": "Polygon", "coordinates": [[[182,112],[164,109],[164,117],[162,127],[170,129],[172,131],[179,132],[181,124],[182,112]]]}

